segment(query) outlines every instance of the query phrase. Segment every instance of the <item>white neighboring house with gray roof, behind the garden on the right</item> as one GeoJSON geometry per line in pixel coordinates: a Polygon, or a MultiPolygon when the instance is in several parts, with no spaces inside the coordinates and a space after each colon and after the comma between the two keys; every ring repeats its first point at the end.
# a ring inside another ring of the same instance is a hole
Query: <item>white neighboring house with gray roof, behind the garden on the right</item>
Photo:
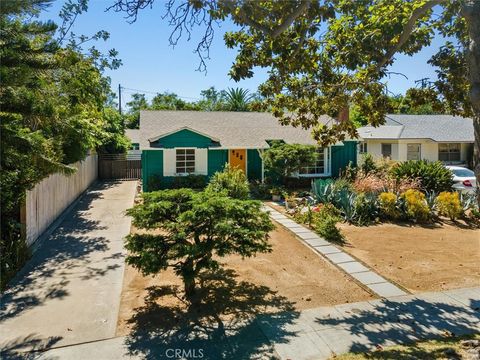
{"type": "Polygon", "coordinates": [[[440,160],[468,164],[473,154],[473,121],[451,115],[387,115],[384,125],[358,129],[358,153],[375,159],[440,160]]]}

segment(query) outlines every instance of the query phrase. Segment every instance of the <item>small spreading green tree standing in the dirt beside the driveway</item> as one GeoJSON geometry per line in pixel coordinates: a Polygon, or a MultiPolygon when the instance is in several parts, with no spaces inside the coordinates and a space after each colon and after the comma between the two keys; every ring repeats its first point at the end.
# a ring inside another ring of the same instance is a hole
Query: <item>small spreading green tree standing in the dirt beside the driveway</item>
{"type": "Polygon", "coordinates": [[[158,234],[131,234],[127,263],[144,275],[173,268],[185,286],[186,298],[195,300],[196,278],[202,270],[216,269],[218,257],[250,257],[269,252],[273,225],[254,200],[233,199],[225,192],[163,190],[143,194],[143,203],[129,209],[133,224],[158,234]]]}

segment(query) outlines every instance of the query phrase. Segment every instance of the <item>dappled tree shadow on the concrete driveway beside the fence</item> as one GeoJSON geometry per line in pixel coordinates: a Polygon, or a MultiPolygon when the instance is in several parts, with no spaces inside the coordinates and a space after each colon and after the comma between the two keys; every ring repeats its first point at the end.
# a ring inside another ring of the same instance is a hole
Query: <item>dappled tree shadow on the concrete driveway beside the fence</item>
{"type": "MultiPolygon", "coordinates": [[[[102,191],[114,183],[98,183],[89,190],[60,226],[37,244],[36,251],[27,264],[17,273],[4,291],[0,304],[0,325],[6,319],[18,316],[25,310],[42,305],[52,298],[69,295],[69,275],[82,273],[82,279],[104,276],[118,265],[110,264],[115,257],[104,258],[100,264],[92,264],[93,252],[109,249],[109,240],[96,233],[105,229],[100,221],[89,218],[94,201],[103,197],[102,191]],[[92,232],[93,235],[92,236],[92,232]]],[[[120,254],[121,255],[121,254],[120,254]]]]}

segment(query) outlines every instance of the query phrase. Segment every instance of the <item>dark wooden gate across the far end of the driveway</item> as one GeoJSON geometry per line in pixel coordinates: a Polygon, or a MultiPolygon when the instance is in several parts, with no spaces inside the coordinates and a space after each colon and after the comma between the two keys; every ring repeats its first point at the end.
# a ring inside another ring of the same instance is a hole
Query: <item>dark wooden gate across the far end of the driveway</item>
{"type": "Polygon", "coordinates": [[[142,177],[140,154],[102,154],[98,159],[98,177],[104,180],[132,180],[142,177]]]}

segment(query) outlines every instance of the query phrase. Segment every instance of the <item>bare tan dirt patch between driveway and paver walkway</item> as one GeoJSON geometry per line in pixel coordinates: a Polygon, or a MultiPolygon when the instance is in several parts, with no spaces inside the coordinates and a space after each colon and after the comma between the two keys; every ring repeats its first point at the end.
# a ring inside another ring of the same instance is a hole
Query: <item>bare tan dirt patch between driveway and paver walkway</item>
{"type": "Polygon", "coordinates": [[[373,298],[281,226],[270,235],[271,253],[243,260],[228,256],[222,259],[223,271],[202,277],[202,306],[195,310],[183,301],[181,280],[172,271],[142,276],[127,266],[117,335],[149,326],[176,327],[189,316],[198,321],[202,316],[295,312],[373,298]]]}

